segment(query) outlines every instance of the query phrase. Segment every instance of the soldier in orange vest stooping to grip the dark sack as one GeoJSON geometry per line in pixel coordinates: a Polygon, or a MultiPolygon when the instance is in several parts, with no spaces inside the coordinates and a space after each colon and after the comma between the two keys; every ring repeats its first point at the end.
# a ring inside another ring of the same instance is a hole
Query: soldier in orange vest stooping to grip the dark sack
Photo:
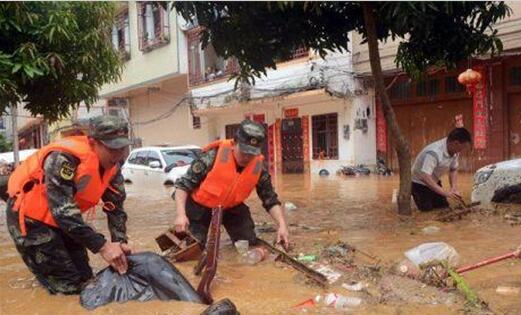
{"type": "Polygon", "coordinates": [[[50,293],[76,294],[92,277],[86,249],[120,273],[127,270],[125,188],[118,162],[130,144],[125,121],[91,119],[89,136],[44,146],[8,183],[7,227],[29,270],[50,293]],[[111,241],[82,213],[104,202],[111,241]]]}

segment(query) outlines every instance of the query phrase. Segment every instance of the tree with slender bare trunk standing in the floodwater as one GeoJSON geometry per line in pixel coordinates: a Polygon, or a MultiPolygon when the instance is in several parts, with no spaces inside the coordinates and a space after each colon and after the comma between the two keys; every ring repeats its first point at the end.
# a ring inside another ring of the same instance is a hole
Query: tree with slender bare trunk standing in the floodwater
{"type": "Polygon", "coordinates": [[[399,43],[396,65],[412,77],[430,67],[454,68],[470,56],[501,51],[494,23],[510,14],[503,2],[176,2],[202,26],[203,46],[237,58],[238,80],[254,81],[276,60],[307,47],[324,57],[347,51],[349,32],[368,43],[375,89],[398,155],[398,212],[410,214],[411,154],[384,86],[378,42],[399,43]]]}

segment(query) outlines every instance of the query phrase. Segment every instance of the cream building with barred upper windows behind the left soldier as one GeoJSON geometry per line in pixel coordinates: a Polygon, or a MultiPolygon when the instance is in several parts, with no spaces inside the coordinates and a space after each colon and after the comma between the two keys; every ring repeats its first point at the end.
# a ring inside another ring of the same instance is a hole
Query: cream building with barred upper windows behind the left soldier
{"type": "MultiPolygon", "coordinates": [[[[138,146],[207,143],[206,129],[192,127],[185,40],[175,10],[152,1],[120,2],[112,42],[124,61],[121,80],[103,86],[99,102],[89,111],[80,107],[71,120],[121,116],[138,146]]],[[[53,134],[67,134],[67,125],[57,124],[61,132],[53,134]]]]}

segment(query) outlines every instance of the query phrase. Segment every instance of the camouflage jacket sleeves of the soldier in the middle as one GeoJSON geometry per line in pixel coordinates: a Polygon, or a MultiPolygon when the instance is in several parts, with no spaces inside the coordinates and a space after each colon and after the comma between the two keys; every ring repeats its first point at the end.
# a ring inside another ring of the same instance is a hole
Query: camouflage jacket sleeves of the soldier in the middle
{"type": "MultiPolygon", "coordinates": [[[[186,174],[175,182],[175,187],[186,192],[192,192],[195,188],[199,187],[212,169],[216,156],[217,149],[201,153],[198,159],[192,161],[186,174]]],[[[262,169],[256,188],[257,195],[262,201],[262,206],[266,211],[269,211],[275,205],[281,204],[271,184],[270,173],[268,173],[265,168],[262,169]]],[[[172,195],[172,198],[174,198],[174,195],[172,195]]]]}

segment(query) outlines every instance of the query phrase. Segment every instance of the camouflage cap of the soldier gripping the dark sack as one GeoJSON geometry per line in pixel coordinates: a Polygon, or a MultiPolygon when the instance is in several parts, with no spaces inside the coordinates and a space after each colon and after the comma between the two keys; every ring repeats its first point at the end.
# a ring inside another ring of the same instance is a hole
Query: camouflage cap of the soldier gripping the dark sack
{"type": "Polygon", "coordinates": [[[128,123],[117,116],[96,116],[89,120],[89,136],[111,149],[121,149],[131,144],[128,123]]]}

